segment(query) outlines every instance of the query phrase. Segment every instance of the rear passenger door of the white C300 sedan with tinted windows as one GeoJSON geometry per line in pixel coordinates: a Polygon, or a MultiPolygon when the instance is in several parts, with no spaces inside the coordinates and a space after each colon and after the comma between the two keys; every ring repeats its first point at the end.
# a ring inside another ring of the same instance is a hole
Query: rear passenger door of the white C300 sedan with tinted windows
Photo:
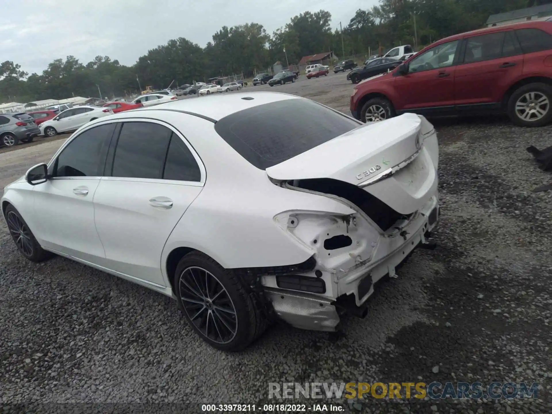
{"type": "Polygon", "coordinates": [[[156,120],[132,119],[113,140],[113,161],[94,194],[106,267],[166,286],[163,247],[199,195],[205,169],[184,137],[156,120]]]}

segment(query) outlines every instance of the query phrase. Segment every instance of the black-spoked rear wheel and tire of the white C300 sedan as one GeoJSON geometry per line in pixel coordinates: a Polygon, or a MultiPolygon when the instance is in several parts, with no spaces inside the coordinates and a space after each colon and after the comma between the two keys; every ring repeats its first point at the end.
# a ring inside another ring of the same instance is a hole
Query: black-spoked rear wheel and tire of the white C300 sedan
{"type": "Polygon", "coordinates": [[[190,327],[214,348],[241,351],[266,329],[245,282],[203,253],[188,253],[178,263],[174,292],[190,327]]]}

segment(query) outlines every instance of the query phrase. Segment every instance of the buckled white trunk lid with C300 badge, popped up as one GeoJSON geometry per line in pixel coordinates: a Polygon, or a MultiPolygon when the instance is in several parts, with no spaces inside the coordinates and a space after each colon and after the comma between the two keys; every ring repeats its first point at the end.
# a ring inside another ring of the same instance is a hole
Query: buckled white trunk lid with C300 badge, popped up
{"type": "Polygon", "coordinates": [[[266,171],[279,181],[330,178],[354,184],[406,215],[434,194],[437,154],[432,125],[404,114],[365,124],[266,171]]]}

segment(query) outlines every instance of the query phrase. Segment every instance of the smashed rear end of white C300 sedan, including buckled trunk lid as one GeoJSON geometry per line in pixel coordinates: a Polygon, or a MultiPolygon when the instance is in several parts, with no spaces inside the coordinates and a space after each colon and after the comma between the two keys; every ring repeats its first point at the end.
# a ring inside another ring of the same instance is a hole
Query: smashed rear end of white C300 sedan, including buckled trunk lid
{"type": "Polygon", "coordinates": [[[310,272],[264,277],[275,312],[296,327],[324,331],[336,330],[345,312],[364,317],[374,284],[396,277],[416,247],[429,246],[426,235],[439,215],[437,167],[433,126],[405,114],[267,168],[279,187],[324,195],[354,211],[284,211],[274,217],[316,259],[310,272]]]}

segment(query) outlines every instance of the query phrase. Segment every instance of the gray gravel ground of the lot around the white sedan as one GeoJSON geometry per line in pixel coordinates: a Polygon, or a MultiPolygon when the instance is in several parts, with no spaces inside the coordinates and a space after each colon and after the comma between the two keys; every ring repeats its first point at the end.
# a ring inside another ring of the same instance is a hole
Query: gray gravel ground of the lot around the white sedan
{"type": "MultiPolygon", "coordinates": [[[[351,84],[344,77],[255,88],[347,112],[351,84]]],[[[26,411],[10,406],[17,403],[39,402],[35,410],[55,412],[62,406],[48,403],[95,402],[118,403],[97,406],[98,412],[195,412],[200,403],[274,403],[267,399],[269,382],[436,380],[538,382],[539,399],[333,403],[370,414],[552,412],[552,192],[531,192],[552,176],[525,150],[552,145],[552,127],[522,129],[503,119],[434,124],[438,247],[416,251],[399,278],[381,283],[366,319],[347,319],[337,342],[275,325],[243,353],[215,351],[193,334],[171,299],[60,257],[30,263],[2,222],[4,411],[26,411]]],[[[62,142],[0,154],[0,188],[47,161],[62,142]]]]}

